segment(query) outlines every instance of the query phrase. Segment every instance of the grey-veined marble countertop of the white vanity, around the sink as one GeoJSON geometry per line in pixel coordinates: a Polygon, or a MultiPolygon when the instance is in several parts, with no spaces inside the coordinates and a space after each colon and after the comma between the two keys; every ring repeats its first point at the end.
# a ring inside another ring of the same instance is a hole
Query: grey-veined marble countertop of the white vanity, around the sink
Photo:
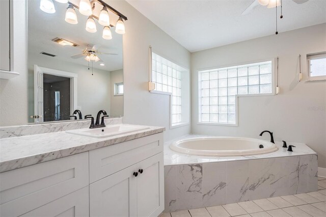
{"type": "Polygon", "coordinates": [[[165,131],[165,127],[146,127],[149,128],[102,139],[70,134],[65,131],[0,139],[0,172],[35,165],[40,162],[66,157],[165,131]]]}

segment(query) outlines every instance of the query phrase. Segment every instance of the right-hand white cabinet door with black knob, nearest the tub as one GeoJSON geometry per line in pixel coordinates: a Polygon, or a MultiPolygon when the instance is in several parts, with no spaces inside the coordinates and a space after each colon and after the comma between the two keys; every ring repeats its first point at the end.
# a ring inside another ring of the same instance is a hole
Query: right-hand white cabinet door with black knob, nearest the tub
{"type": "Polygon", "coordinates": [[[137,164],[137,215],[158,216],[164,210],[163,153],[137,164]]]}

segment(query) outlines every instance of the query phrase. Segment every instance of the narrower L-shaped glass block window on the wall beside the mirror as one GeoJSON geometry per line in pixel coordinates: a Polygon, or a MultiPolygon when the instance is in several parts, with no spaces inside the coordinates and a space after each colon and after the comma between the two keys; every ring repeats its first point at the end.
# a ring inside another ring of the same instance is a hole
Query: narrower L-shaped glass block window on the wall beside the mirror
{"type": "Polygon", "coordinates": [[[182,122],[181,115],[181,66],[152,52],[152,82],[155,91],[171,94],[172,124],[182,122]]]}

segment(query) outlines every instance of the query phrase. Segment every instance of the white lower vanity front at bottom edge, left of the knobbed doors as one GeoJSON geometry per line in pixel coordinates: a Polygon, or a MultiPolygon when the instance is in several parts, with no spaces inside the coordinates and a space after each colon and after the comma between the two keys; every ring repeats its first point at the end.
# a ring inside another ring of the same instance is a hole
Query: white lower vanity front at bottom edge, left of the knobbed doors
{"type": "Polygon", "coordinates": [[[88,186],[20,216],[89,216],[88,186]]]}

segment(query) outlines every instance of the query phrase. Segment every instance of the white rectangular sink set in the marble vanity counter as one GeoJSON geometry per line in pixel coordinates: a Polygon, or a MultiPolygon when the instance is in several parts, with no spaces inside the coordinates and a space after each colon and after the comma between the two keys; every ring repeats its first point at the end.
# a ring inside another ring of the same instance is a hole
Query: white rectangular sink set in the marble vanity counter
{"type": "Polygon", "coordinates": [[[93,138],[105,138],[105,137],[113,137],[114,135],[120,135],[128,132],[135,132],[144,129],[149,129],[146,126],[137,126],[137,125],[109,125],[106,127],[100,128],[83,128],[83,129],[73,129],[67,130],[67,133],[72,133],[76,135],[84,135],[85,137],[93,137],[93,138]]]}

